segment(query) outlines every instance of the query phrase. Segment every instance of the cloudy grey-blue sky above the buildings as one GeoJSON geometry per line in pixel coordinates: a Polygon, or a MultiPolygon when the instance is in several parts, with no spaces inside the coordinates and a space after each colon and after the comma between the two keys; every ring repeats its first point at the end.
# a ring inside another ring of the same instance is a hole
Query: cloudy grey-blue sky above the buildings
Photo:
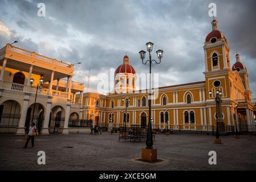
{"type": "MultiPolygon", "coordinates": [[[[75,66],[74,80],[96,91],[99,73],[109,73],[123,63],[125,52],[137,73],[148,72],[138,52],[145,43],[164,50],[159,86],[203,81],[204,41],[212,30],[208,5],[217,5],[218,28],[235,50],[250,74],[256,98],[256,1],[138,1],[138,0],[0,0],[0,47],[14,40],[18,47],[39,52],[75,66]],[[46,5],[46,16],[39,17],[38,3],[46,5]]],[[[156,55],[153,55],[153,57],[156,55]]],[[[87,91],[87,88],[85,89],[87,91]]]]}

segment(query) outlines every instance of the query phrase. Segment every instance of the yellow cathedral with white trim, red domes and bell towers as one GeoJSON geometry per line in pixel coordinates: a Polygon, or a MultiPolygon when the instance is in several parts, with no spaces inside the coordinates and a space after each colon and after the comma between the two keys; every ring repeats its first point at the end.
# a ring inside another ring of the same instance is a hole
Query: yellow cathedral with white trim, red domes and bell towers
{"type": "MultiPolygon", "coordinates": [[[[233,56],[229,51],[227,39],[214,19],[204,43],[204,81],[157,88],[159,97],[152,100],[153,129],[216,129],[215,97],[221,92],[221,130],[255,131],[256,106],[251,101],[249,73],[238,53],[230,65],[233,56]]],[[[82,118],[102,127],[145,127],[148,93],[137,91],[136,72],[125,55],[123,64],[115,71],[113,92],[83,94],[82,118]]]]}

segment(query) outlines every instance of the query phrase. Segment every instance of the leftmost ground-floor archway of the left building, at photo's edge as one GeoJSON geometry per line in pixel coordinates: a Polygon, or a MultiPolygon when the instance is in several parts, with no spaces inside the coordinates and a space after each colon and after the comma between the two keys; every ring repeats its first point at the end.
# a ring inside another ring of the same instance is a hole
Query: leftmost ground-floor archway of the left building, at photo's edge
{"type": "Polygon", "coordinates": [[[16,133],[21,118],[21,105],[15,100],[6,100],[0,105],[0,132],[16,133]],[[5,130],[2,130],[2,126],[5,130]]]}

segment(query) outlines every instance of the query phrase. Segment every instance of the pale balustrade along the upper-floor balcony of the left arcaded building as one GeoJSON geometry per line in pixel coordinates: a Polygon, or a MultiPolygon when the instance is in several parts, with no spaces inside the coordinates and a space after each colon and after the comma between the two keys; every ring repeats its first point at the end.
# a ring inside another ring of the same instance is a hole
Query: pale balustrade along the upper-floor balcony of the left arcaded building
{"type": "MultiPolygon", "coordinates": [[[[23,92],[23,93],[36,93],[36,87],[29,86],[29,85],[23,85],[23,84],[17,84],[13,82],[7,82],[7,81],[0,81],[0,88],[4,90],[10,90],[15,92],[23,92]]],[[[65,98],[68,99],[68,92],[62,92],[59,90],[50,90],[46,88],[38,89],[38,94],[42,96],[48,96],[51,95],[56,98],[65,98]]]]}

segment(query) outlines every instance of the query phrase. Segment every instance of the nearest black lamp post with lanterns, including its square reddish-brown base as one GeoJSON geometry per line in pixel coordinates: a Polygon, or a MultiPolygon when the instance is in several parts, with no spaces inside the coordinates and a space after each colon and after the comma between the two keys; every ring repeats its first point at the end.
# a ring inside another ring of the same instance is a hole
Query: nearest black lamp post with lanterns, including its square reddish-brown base
{"type": "Polygon", "coordinates": [[[161,58],[162,58],[162,53],[164,51],[162,50],[158,50],[156,51],[157,53],[157,57],[159,58],[159,61],[156,60],[152,60],[151,59],[151,52],[153,51],[153,43],[152,42],[148,42],[146,44],[147,46],[147,51],[149,53],[149,59],[147,61],[144,62],[145,59],[145,54],[146,52],[141,50],[139,52],[140,54],[140,59],[142,60],[142,63],[144,65],[149,64],[149,101],[148,101],[148,130],[147,130],[147,139],[146,139],[146,148],[142,148],[141,150],[141,159],[148,161],[148,162],[153,162],[155,160],[157,160],[157,150],[153,149],[153,134],[152,134],[152,122],[151,122],[151,99],[152,99],[152,94],[151,94],[151,68],[153,65],[155,64],[160,64],[161,63],[161,58]],[[152,65],[153,63],[153,65],[152,65]]]}

